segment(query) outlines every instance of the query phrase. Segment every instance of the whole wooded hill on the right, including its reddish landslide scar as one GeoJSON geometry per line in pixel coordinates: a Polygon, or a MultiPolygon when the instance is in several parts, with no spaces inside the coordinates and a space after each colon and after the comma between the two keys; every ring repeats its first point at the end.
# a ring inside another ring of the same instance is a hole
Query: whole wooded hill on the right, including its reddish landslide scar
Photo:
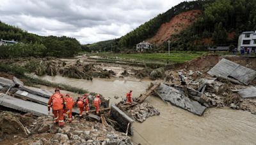
{"type": "MultiPolygon", "coordinates": [[[[148,41],[166,50],[170,39],[175,50],[207,50],[210,45],[236,46],[241,32],[255,30],[256,1],[189,1],[128,32],[118,40],[116,48],[134,49],[137,43],[148,41]]],[[[104,44],[100,47],[104,48],[104,44]]]]}

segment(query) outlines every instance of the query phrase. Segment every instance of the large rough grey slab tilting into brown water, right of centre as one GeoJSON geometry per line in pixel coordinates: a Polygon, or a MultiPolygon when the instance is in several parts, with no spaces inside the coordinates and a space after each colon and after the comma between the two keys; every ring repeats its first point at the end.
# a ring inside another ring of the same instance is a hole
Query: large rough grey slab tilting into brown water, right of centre
{"type": "Polygon", "coordinates": [[[202,106],[199,102],[189,99],[189,97],[180,92],[180,90],[172,86],[164,85],[163,83],[156,89],[156,93],[164,101],[170,102],[174,106],[181,107],[199,116],[202,116],[207,108],[202,106]]]}

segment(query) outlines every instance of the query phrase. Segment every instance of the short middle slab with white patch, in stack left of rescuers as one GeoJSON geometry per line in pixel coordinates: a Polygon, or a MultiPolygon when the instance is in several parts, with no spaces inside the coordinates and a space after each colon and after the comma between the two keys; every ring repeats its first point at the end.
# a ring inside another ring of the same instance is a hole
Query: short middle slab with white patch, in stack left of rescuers
{"type": "Polygon", "coordinates": [[[47,105],[49,100],[45,97],[34,95],[32,93],[22,91],[22,90],[18,90],[17,92],[14,93],[14,95],[17,97],[20,97],[20,99],[31,100],[32,102],[36,102],[43,105],[47,105]]]}

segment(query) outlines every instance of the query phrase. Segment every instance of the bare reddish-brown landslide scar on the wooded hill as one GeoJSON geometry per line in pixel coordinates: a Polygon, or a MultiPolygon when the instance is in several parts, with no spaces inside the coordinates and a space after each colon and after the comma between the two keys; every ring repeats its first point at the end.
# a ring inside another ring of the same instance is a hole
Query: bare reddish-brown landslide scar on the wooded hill
{"type": "Polygon", "coordinates": [[[170,39],[170,36],[179,34],[180,31],[193,24],[200,14],[200,10],[190,10],[176,15],[175,17],[171,18],[170,22],[162,24],[157,30],[156,35],[147,41],[155,45],[163,44],[164,41],[170,39]]]}

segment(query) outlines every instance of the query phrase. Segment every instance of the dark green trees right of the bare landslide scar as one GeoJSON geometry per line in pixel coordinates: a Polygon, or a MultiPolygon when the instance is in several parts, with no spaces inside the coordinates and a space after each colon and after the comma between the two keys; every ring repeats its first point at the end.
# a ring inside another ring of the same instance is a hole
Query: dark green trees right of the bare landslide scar
{"type": "Polygon", "coordinates": [[[205,50],[207,45],[237,46],[239,34],[256,29],[256,1],[216,0],[205,4],[204,13],[198,20],[173,36],[172,47],[180,50],[205,50]],[[234,37],[227,38],[227,33],[234,37]],[[212,39],[206,44],[204,39],[212,39]]]}

